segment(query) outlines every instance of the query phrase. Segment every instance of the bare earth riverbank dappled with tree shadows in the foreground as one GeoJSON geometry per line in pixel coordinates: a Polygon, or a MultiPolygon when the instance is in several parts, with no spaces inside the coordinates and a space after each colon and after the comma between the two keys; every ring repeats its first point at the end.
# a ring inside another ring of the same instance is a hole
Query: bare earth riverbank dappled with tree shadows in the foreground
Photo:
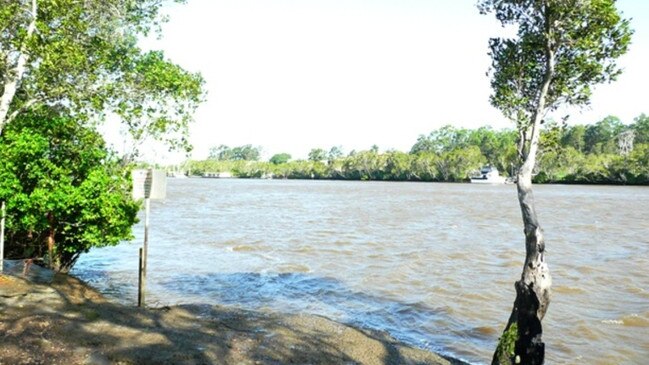
{"type": "Polygon", "coordinates": [[[319,316],[141,309],[33,266],[0,275],[1,364],[462,364],[319,316]]]}

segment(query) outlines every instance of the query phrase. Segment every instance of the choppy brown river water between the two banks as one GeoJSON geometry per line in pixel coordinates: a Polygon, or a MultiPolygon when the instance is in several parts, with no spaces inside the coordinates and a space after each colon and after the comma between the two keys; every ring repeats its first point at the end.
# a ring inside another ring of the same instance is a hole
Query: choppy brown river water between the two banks
{"type": "MultiPolygon", "coordinates": [[[[534,190],[547,363],[649,363],[649,188],[534,190]]],[[[524,258],[512,185],[168,179],[151,211],[149,305],[324,315],[474,364],[491,360],[524,258]]],[[[73,274],[133,304],[142,223],[135,235],[73,274]]]]}

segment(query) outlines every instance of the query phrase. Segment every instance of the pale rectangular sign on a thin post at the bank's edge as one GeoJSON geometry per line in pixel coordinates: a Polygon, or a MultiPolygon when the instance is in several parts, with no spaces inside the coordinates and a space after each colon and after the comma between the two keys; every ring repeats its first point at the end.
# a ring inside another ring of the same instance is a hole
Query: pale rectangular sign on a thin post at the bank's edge
{"type": "Polygon", "coordinates": [[[137,306],[143,307],[146,293],[147,256],[149,249],[149,216],[151,199],[164,199],[167,195],[167,176],[163,171],[133,170],[133,199],[144,198],[144,243],[140,248],[138,267],[137,306]]]}

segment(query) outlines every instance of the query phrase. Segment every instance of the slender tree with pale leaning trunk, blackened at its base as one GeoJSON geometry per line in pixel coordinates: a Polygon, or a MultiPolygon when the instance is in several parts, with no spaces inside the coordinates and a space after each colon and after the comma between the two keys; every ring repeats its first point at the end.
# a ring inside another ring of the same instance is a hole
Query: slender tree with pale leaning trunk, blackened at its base
{"type": "Polygon", "coordinates": [[[592,85],[620,74],[616,59],[627,51],[631,30],[614,0],[480,0],[512,39],[490,40],[491,103],[516,123],[518,201],[525,232],[525,265],[516,300],[493,364],[542,364],[541,320],[550,303],[552,279],[532,194],[541,124],[561,105],[585,105],[592,85]]]}

